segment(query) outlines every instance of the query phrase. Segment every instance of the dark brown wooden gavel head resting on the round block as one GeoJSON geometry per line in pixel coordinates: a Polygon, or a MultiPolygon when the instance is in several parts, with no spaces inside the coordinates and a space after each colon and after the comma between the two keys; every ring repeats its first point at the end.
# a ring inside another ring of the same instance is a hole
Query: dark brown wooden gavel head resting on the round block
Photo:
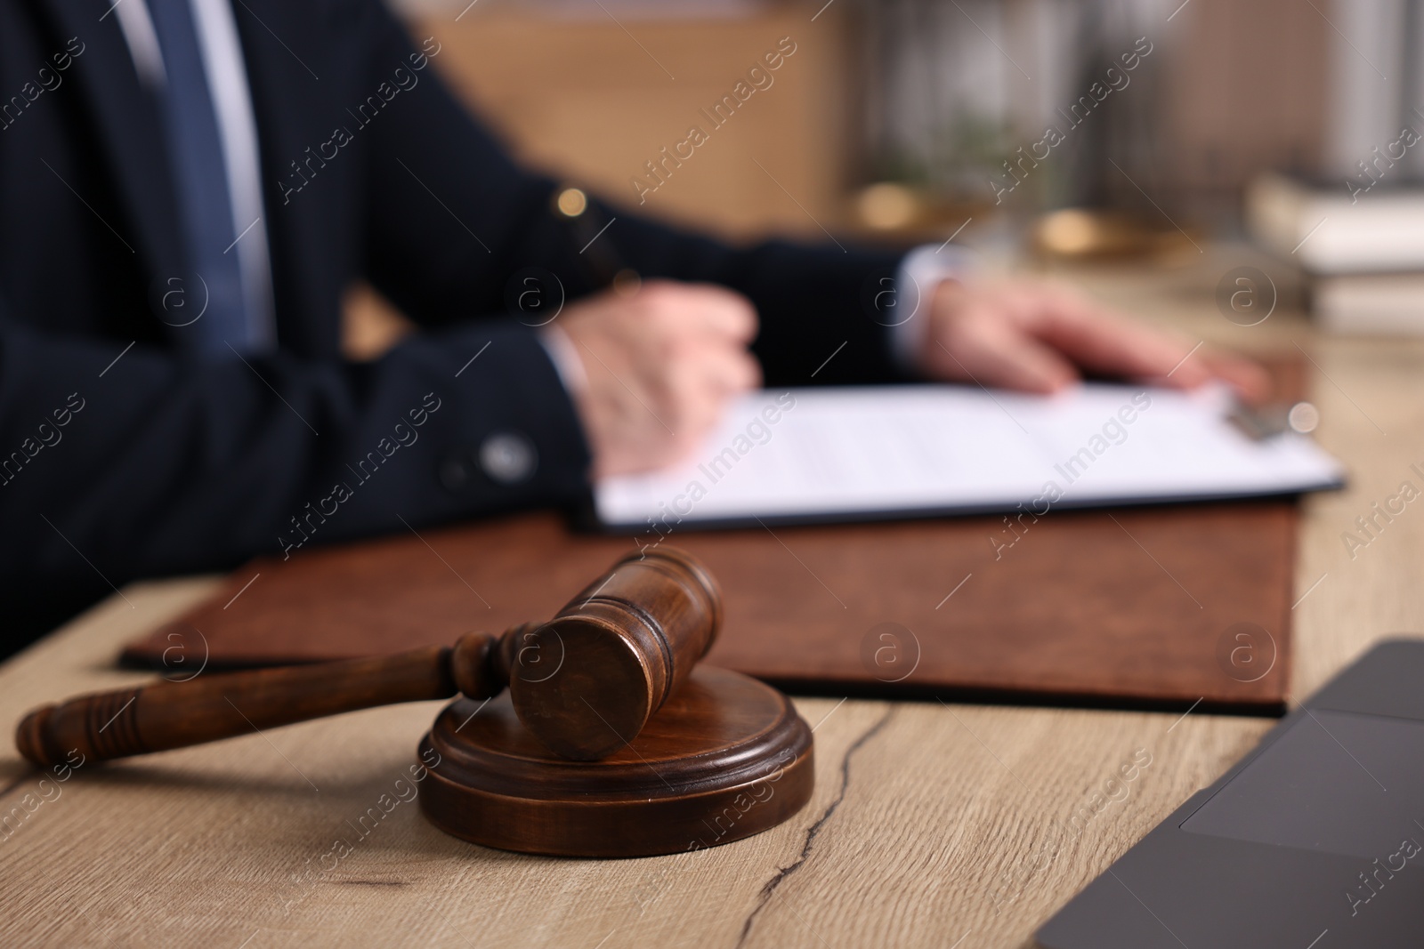
{"type": "Polygon", "coordinates": [[[612,754],[642,730],[722,626],[722,595],[692,555],[634,553],[590,583],[543,626],[507,636],[514,710],[565,758],[612,754]]]}

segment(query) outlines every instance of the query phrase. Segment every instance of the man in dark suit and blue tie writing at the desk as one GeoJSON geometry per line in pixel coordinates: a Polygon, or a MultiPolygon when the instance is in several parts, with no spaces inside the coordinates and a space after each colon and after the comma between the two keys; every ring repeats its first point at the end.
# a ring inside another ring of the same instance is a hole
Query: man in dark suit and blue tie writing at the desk
{"type": "Polygon", "coordinates": [[[762,380],[1049,390],[1186,353],[1057,290],[954,282],[917,287],[893,346],[903,255],[733,249],[595,202],[600,250],[642,277],[604,290],[439,53],[379,0],[0,0],[10,646],[137,576],[574,502],[762,380]],[[511,316],[533,272],[568,299],[545,327],[511,316]],[[423,329],[359,364],[357,279],[423,329]]]}

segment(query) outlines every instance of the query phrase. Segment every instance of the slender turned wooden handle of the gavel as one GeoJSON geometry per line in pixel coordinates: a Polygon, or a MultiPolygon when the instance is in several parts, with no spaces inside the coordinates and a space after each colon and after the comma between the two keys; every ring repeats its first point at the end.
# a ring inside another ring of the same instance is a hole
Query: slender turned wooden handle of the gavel
{"type": "MultiPolygon", "coordinates": [[[[504,683],[461,674],[488,667],[494,637],[463,636],[451,649],[426,646],[379,659],[349,659],[310,666],[199,676],[78,696],[36,709],[16,728],[16,746],[41,768],[78,750],[84,760],[181,748],[262,728],[400,701],[449,699],[457,690],[497,694],[504,683]]],[[[484,697],[474,694],[474,697],[484,697]]]]}

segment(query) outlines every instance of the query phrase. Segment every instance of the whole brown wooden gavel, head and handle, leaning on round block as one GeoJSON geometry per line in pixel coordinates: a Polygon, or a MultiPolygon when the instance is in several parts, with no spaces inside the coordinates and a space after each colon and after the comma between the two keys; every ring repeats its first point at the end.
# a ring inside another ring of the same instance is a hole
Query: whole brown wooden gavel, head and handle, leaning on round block
{"type": "Polygon", "coordinates": [[[382,659],[205,676],[78,696],[33,710],[20,754],[53,767],[181,748],[400,701],[490,699],[510,689],[550,751],[591,761],[628,744],[686,680],[722,625],[722,596],[692,555],[629,555],[544,625],[467,633],[382,659]]]}

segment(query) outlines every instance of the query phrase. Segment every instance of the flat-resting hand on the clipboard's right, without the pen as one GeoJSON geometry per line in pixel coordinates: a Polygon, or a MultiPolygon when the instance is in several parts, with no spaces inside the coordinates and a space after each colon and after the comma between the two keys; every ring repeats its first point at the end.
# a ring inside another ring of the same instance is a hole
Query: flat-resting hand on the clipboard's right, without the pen
{"type": "Polygon", "coordinates": [[[921,371],[991,388],[1054,393],[1085,370],[1178,388],[1222,378],[1247,401],[1270,394],[1270,380],[1255,363],[1206,347],[1192,353],[1190,340],[1109,313],[1052,283],[946,280],[920,333],[921,371]]]}

